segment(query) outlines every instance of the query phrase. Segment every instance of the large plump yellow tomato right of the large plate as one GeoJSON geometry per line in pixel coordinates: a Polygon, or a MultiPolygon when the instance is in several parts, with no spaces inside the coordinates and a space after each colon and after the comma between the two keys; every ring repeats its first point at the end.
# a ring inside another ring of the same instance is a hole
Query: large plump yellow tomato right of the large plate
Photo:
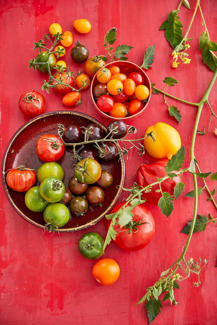
{"type": "Polygon", "coordinates": [[[171,125],[158,122],[155,125],[149,126],[145,133],[150,133],[151,131],[155,133],[155,136],[152,133],[155,142],[149,136],[147,139],[144,139],[144,146],[152,157],[171,159],[181,148],[180,135],[171,125]]]}

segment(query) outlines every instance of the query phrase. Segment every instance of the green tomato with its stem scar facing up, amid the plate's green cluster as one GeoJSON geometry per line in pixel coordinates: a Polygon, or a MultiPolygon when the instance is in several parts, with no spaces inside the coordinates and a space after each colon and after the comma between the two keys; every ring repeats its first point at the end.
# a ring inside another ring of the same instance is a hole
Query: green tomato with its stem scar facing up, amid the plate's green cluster
{"type": "Polygon", "coordinates": [[[65,186],[59,178],[50,176],[41,182],[39,191],[45,201],[54,203],[64,197],[65,186]]]}

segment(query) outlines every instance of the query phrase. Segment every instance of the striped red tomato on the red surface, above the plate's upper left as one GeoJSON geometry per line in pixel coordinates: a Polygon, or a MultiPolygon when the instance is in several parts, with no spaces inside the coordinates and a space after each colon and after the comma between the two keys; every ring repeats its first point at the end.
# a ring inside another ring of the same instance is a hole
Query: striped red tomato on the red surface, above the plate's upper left
{"type": "Polygon", "coordinates": [[[44,96],[35,90],[26,91],[19,99],[19,110],[30,118],[43,114],[45,106],[44,96]]]}

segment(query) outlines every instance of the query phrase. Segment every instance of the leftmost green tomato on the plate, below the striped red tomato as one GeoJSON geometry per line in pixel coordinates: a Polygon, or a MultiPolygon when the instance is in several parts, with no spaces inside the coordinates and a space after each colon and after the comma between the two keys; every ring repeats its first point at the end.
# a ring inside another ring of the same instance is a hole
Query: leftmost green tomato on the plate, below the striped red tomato
{"type": "Polygon", "coordinates": [[[42,212],[47,205],[39,192],[39,186],[31,187],[25,194],[25,205],[34,212],[42,212]]]}

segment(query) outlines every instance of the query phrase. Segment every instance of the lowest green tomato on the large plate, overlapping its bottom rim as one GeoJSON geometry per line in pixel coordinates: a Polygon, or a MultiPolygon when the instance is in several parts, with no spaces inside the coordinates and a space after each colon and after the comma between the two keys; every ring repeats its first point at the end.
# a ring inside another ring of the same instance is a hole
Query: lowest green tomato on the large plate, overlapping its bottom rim
{"type": "Polygon", "coordinates": [[[52,203],[44,210],[44,220],[49,224],[45,225],[49,230],[63,227],[69,220],[69,211],[62,203],[52,203]]]}

